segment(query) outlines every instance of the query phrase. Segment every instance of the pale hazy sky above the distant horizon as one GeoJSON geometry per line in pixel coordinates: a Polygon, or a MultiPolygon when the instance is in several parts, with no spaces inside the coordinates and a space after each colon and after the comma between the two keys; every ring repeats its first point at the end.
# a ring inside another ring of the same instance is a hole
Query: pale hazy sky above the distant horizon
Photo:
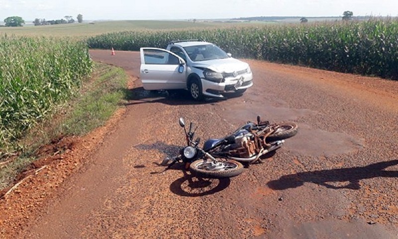
{"type": "Polygon", "coordinates": [[[398,0],[0,0],[8,16],[60,19],[81,13],[86,20],[192,19],[242,16],[398,16],[398,0]]]}

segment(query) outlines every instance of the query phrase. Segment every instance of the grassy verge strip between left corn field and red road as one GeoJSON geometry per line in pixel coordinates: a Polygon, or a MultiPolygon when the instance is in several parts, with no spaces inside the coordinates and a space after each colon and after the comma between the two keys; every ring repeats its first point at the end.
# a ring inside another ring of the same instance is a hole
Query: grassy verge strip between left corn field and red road
{"type": "Polygon", "coordinates": [[[103,125],[128,99],[127,75],[121,69],[95,63],[93,76],[69,103],[59,106],[53,117],[42,121],[19,141],[22,153],[0,166],[0,190],[8,187],[30,163],[37,150],[63,136],[82,136],[103,125]]]}

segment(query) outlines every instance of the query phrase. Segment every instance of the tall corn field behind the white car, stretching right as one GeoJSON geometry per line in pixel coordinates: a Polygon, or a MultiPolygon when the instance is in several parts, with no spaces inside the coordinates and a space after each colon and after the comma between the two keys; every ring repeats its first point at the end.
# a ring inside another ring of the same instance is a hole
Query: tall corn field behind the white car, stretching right
{"type": "Polygon", "coordinates": [[[370,19],[264,27],[127,31],[88,39],[91,48],[136,51],[172,40],[213,42],[239,58],[297,64],[398,80],[398,21],[370,19]]]}

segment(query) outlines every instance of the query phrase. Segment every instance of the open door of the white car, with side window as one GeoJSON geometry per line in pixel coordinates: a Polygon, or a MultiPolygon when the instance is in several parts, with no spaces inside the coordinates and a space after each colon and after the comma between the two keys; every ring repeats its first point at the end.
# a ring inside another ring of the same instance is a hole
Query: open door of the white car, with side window
{"type": "Polygon", "coordinates": [[[140,78],[145,90],[185,89],[186,64],[166,49],[140,48],[140,78]]]}

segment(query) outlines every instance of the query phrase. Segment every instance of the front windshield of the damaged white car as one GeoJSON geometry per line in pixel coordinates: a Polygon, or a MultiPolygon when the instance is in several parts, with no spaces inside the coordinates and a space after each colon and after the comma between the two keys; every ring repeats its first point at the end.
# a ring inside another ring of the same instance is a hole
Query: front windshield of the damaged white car
{"type": "Polygon", "coordinates": [[[221,50],[216,45],[197,45],[197,46],[187,46],[184,47],[185,51],[188,53],[188,56],[193,61],[207,61],[213,59],[223,59],[228,58],[229,56],[225,51],[221,50]]]}

